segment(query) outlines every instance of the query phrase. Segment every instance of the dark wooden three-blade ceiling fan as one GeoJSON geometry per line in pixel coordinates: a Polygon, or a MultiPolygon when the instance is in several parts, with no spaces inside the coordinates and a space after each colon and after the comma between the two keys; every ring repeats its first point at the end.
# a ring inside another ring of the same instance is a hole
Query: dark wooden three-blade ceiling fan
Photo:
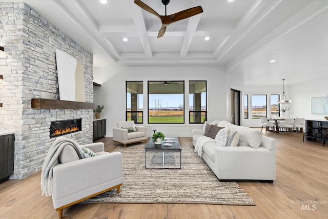
{"type": "Polygon", "coordinates": [[[141,2],[140,0],[134,0],[134,3],[137,4],[140,8],[155,14],[162,22],[162,27],[160,28],[157,38],[164,35],[166,31],[166,27],[174,22],[180,21],[182,19],[186,19],[188,17],[194,16],[196,14],[202,13],[203,9],[201,6],[189,8],[171,15],[166,14],[166,6],[170,3],[170,0],[162,0],[163,5],[165,5],[165,16],[159,15],[156,11],[154,11],[151,7],[141,2]]]}

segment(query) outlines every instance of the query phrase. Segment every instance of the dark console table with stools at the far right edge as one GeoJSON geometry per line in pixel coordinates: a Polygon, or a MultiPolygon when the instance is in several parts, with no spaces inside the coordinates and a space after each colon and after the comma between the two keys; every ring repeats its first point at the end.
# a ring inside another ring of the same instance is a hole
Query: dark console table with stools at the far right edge
{"type": "Polygon", "coordinates": [[[328,141],[328,120],[305,120],[306,135],[304,135],[306,140],[313,141],[316,133],[319,131],[322,133],[323,138],[315,138],[315,140],[323,141],[323,145],[328,141]]]}

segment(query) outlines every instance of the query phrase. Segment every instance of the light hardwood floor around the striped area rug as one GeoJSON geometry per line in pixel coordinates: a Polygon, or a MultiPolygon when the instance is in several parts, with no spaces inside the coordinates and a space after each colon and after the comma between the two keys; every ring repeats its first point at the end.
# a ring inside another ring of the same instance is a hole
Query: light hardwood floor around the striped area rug
{"type": "MultiPolygon", "coordinates": [[[[76,204],[64,209],[63,218],[328,218],[328,145],[303,143],[301,133],[263,135],[276,139],[276,181],[237,182],[256,206],[76,204]]],[[[110,137],[100,141],[107,151],[117,147],[110,137]]],[[[41,196],[40,172],[0,184],[0,218],[58,218],[51,197],[41,196]]]]}

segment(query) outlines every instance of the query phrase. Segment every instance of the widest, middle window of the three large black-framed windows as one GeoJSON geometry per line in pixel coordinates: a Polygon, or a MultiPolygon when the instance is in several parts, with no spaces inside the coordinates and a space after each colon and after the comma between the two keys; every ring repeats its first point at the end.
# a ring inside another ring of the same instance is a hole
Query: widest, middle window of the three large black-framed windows
{"type": "Polygon", "coordinates": [[[185,123],[185,82],[148,82],[148,123],[185,123]]]}

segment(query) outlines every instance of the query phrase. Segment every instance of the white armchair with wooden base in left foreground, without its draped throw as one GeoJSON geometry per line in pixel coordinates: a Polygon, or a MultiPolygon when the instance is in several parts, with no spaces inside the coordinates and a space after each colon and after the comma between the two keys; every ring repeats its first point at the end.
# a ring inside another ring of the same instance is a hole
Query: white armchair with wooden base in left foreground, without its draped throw
{"type": "MultiPolygon", "coordinates": [[[[115,188],[119,193],[122,185],[120,152],[101,153],[104,151],[104,143],[92,143],[81,147],[100,154],[57,164],[53,168],[52,202],[59,218],[63,215],[64,208],[115,188]]],[[[61,153],[65,153],[65,150],[61,153]]]]}

